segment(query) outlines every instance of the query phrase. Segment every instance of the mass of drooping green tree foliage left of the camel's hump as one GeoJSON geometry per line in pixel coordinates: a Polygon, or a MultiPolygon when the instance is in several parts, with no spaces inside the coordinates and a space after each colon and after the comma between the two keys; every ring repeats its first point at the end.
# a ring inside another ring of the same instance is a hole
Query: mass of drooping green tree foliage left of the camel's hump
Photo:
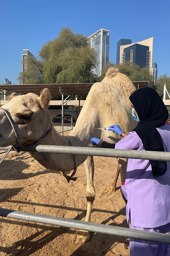
{"type": "Polygon", "coordinates": [[[39,59],[28,57],[28,71],[18,80],[29,83],[95,82],[91,73],[96,64],[96,52],[88,46],[86,36],[74,34],[70,28],[61,29],[58,37],[44,44],[39,59]]]}

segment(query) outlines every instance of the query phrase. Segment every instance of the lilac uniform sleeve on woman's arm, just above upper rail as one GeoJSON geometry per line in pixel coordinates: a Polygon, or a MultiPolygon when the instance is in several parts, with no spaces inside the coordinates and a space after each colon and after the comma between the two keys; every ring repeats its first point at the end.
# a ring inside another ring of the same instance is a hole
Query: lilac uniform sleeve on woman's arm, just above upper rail
{"type": "Polygon", "coordinates": [[[137,133],[129,132],[128,136],[121,139],[115,144],[115,149],[139,149],[142,141],[138,137],[137,133]],[[137,136],[137,137],[136,137],[137,136]]]}

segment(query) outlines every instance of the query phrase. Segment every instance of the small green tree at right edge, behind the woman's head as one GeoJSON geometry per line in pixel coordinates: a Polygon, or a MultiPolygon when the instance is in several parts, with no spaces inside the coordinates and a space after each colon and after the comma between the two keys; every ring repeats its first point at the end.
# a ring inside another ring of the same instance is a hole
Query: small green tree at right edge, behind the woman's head
{"type": "MultiPolygon", "coordinates": [[[[170,94],[170,76],[167,74],[159,76],[157,80],[157,86],[156,86],[156,91],[158,92],[159,96],[163,99],[163,87],[164,84],[166,84],[166,89],[168,93],[170,94]]],[[[168,100],[168,96],[166,94],[166,100],[168,100]]]]}

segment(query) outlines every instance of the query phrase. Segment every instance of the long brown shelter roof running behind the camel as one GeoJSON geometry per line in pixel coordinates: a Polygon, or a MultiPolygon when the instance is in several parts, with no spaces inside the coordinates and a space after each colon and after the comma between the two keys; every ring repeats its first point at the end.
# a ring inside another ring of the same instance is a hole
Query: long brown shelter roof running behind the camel
{"type": "MultiPolygon", "coordinates": [[[[132,82],[137,89],[142,87],[147,87],[148,81],[135,81],[132,82]]],[[[84,84],[0,84],[1,91],[6,90],[10,92],[17,92],[21,94],[26,94],[33,92],[35,94],[40,94],[40,91],[44,88],[48,88],[51,92],[51,95],[88,95],[91,86],[93,83],[84,83],[84,84]]]]}

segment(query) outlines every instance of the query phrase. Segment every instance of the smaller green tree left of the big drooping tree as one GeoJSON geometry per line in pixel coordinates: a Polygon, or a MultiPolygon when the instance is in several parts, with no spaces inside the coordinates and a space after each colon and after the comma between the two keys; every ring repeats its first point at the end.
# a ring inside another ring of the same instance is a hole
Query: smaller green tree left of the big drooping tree
{"type": "Polygon", "coordinates": [[[43,62],[37,60],[34,56],[28,56],[23,60],[23,63],[27,66],[27,70],[19,73],[19,84],[42,84],[43,62]]]}

